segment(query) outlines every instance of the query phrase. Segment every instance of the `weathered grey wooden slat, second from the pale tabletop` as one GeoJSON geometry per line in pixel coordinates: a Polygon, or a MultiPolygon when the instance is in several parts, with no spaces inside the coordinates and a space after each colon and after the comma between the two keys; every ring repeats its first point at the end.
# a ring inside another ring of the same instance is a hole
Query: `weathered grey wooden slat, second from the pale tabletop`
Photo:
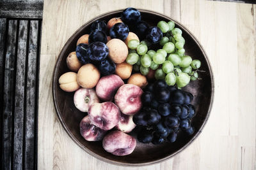
{"type": "Polygon", "coordinates": [[[20,20],[17,46],[17,67],[15,83],[15,111],[13,134],[13,168],[22,169],[24,157],[24,112],[26,111],[26,52],[28,20],[20,20]]]}

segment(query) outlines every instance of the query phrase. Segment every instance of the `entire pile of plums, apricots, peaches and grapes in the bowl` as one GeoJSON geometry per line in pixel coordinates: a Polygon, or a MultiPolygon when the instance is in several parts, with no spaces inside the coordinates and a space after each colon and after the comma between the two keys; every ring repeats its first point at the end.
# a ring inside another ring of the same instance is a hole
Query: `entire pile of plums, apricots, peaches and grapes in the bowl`
{"type": "Polygon", "coordinates": [[[184,54],[184,43],[174,22],[150,27],[135,8],[107,24],[93,22],[67,57],[70,72],[59,78],[62,90],[74,92],[76,108],[88,113],[83,138],[121,156],[136,147],[134,129],[138,141],[154,145],[175,142],[179,129],[193,134],[193,94],[181,87],[198,79],[201,62],[184,54]]]}

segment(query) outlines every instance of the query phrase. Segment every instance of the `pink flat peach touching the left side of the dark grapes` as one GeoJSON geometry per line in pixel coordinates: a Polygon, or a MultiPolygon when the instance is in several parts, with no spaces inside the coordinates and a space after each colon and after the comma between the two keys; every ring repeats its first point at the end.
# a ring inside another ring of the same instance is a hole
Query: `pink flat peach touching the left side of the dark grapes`
{"type": "Polygon", "coordinates": [[[122,85],[115,95],[115,103],[125,115],[134,115],[141,109],[143,90],[132,84],[122,85]]]}

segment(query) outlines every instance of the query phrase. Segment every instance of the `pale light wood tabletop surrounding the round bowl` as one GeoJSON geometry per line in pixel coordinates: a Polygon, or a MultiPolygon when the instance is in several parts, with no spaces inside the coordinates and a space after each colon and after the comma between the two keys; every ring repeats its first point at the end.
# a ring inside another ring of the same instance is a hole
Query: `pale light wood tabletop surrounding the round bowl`
{"type": "Polygon", "coordinates": [[[68,38],[91,18],[129,6],[164,13],[185,25],[204,46],[215,80],[214,104],[202,134],[172,159],[132,169],[255,169],[256,5],[204,0],[44,1],[38,169],[130,169],[79,148],[52,102],[52,72],[68,38]]]}

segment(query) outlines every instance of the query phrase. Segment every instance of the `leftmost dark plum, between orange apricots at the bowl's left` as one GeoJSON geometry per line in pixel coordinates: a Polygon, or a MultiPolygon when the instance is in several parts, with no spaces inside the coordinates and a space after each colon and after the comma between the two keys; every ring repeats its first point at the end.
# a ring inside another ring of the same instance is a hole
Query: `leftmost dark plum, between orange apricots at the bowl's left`
{"type": "Polygon", "coordinates": [[[79,44],[76,46],[76,56],[77,59],[82,63],[82,64],[88,64],[91,62],[89,55],[88,55],[88,45],[86,44],[79,44]]]}

